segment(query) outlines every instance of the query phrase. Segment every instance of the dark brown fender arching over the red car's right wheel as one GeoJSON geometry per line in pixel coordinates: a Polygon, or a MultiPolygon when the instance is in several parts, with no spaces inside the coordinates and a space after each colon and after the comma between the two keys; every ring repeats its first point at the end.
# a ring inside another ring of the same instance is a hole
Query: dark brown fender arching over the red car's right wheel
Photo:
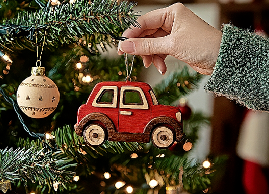
{"type": "Polygon", "coordinates": [[[168,124],[173,128],[172,130],[176,133],[176,141],[181,141],[185,137],[180,124],[175,119],[170,117],[156,117],[152,119],[146,125],[144,133],[151,135],[152,130],[158,126],[161,126],[162,124],[168,124]]]}

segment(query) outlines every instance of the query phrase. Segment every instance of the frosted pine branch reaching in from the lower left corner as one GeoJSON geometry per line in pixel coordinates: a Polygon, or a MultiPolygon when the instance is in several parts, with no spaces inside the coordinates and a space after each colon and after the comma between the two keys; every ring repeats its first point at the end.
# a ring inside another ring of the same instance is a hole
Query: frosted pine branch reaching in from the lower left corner
{"type": "Polygon", "coordinates": [[[43,152],[43,149],[30,147],[29,149],[6,148],[0,150],[0,179],[7,179],[11,182],[23,180],[39,184],[46,184],[46,179],[53,182],[66,182],[74,175],[67,171],[69,167],[77,164],[67,164],[72,159],[56,160],[52,158],[52,151],[43,152]]]}

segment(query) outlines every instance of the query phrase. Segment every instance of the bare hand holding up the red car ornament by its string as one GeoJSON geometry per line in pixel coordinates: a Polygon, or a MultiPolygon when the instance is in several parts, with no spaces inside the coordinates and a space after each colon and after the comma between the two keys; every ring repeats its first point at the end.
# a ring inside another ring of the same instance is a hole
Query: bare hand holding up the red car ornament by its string
{"type": "Polygon", "coordinates": [[[138,18],[141,28],[123,32],[118,54],[141,55],[145,67],[152,63],[164,75],[171,55],[201,74],[210,75],[217,61],[222,32],[207,24],[181,3],[154,10],[138,18]]]}

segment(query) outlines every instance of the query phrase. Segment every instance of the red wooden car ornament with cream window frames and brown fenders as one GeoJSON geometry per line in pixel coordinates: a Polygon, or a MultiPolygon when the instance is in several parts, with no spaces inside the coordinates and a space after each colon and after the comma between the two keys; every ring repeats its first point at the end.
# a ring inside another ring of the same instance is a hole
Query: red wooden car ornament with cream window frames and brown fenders
{"type": "Polygon", "coordinates": [[[78,109],[75,132],[89,146],[152,141],[160,149],[185,136],[179,108],[160,105],[148,83],[131,81],[97,83],[78,109]]]}

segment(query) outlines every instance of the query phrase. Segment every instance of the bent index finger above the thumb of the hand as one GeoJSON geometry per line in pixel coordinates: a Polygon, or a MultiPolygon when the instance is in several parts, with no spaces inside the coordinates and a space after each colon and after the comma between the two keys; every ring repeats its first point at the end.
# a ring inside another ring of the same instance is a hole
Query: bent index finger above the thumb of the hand
{"type": "Polygon", "coordinates": [[[127,38],[137,38],[144,30],[161,28],[167,17],[167,8],[151,11],[137,19],[141,28],[131,26],[123,32],[122,36],[127,38]]]}

